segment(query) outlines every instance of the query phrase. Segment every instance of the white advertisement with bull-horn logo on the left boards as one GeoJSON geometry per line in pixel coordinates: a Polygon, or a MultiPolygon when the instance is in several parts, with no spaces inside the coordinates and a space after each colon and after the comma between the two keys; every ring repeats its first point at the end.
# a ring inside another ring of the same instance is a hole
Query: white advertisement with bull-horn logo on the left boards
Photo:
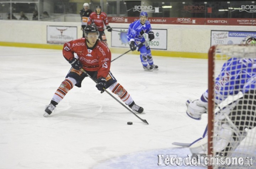
{"type": "Polygon", "coordinates": [[[76,26],[47,26],[47,43],[64,44],[77,39],[76,26]]]}

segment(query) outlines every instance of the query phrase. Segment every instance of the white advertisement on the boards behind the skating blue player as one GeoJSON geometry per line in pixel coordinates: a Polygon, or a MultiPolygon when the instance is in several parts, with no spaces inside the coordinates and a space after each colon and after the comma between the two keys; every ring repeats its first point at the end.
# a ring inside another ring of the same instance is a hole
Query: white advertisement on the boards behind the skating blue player
{"type": "MultiPolygon", "coordinates": [[[[111,32],[111,47],[130,48],[127,39],[127,28],[112,28],[111,32]],[[115,30],[115,31],[114,31],[115,30]]],[[[167,29],[152,29],[155,39],[151,40],[148,44],[151,49],[167,50],[167,29]]],[[[148,35],[144,34],[145,39],[148,35]]]]}

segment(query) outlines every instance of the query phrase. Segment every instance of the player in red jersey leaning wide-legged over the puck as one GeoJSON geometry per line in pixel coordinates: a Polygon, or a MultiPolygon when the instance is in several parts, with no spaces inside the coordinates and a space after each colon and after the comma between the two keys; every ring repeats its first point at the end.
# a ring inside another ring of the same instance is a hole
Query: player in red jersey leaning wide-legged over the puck
{"type": "Polygon", "coordinates": [[[97,81],[96,88],[104,92],[103,88],[110,89],[126,103],[134,112],[142,113],[143,108],[134,103],[130,94],[119,84],[110,71],[111,51],[102,41],[98,40],[99,32],[94,24],[86,25],[85,38],[66,42],[63,46],[63,56],[71,64],[71,69],[65,80],[53,95],[50,104],[46,106],[44,116],[48,116],[56,105],[74,87],[81,87],[81,82],[88,75],[97,81]]]}

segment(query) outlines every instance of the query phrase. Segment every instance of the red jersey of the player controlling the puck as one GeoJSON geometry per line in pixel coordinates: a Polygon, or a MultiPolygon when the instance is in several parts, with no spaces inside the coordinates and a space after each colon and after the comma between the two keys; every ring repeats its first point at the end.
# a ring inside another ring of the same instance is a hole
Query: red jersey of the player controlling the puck
{"type": "Polygon", "coordinates": [[[80,38],[66,42],[62,50],[63,56],[67,60],[71,60],[76,53],[84,70],[98,71],[97,78],[106,78],[110,71],[111,51],[100,40],[97,40],[92,50],[88,49],[85,40],[85,38],[80,38]]]}

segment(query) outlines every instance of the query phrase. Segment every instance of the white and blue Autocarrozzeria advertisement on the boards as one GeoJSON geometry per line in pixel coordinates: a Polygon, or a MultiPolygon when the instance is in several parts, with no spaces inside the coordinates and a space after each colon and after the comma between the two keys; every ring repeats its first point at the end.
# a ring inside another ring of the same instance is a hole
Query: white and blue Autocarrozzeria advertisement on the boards
{"type": "Polygon", "coordinates": [[[256,37],[252,31],[211,31],[211,46],[240,44],[246,37],[256,37]]]}

